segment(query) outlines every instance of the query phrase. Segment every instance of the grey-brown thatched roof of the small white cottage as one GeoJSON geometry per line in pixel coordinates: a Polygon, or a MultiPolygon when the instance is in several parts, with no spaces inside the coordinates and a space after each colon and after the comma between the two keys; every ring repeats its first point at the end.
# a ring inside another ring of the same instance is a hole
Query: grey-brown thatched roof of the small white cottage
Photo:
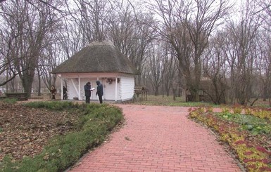
{"type": "Polygon", "coordinates": [[[128,58],[113,44],[94,42],[82,48],[71,58],[56,67],[55,74],[80,72],[121,72],[137,74],[136,68],[128,58]]]}

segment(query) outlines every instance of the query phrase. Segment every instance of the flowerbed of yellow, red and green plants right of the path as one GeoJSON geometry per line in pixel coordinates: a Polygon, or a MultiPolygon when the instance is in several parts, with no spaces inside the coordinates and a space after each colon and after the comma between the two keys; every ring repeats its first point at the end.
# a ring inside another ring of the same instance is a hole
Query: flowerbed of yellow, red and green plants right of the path
{"type": "Polygon", "coordinates": [[[271,171],[270,110],[225,107],[215,113],[211,108],[200,107],[191,110],[189,118],[218,133],[247,171],[271,171]]]}

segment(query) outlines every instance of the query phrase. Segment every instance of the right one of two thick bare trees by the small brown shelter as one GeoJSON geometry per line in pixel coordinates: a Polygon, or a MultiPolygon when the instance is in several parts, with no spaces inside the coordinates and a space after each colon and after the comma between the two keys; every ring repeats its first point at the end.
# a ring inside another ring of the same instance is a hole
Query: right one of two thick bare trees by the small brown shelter
{"type": "Polygon", "coordinates": [[[184,24],[189,30],[190,39],[193,43],[193,82],[189,84],[189,91],[194,100],[198,101],[198,89],[201,80],[201,61],[203,51],[208,46],[208,39],[213,30],[221,24],[229,11],[228,1],[219,0],[196,0],[185,13],[184,24]]]}

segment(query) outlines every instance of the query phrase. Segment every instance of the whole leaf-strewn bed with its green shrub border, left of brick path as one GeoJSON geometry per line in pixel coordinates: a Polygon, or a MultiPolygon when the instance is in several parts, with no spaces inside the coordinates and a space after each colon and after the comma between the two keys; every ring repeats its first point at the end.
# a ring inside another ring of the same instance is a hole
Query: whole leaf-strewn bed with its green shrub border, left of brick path
{"type": "MultiPolygon", "coordinates": [[[[20,113],[12,116],[14,118],[8,118],[8,120],[5,118],[5,124],[8,123],[8,126],[19,127],[0,127],[0,136],[4,135],[4,137],[0,137],[2,138],[1,143],[8,143],[8,140],[11,139],[15,140],[17,137],[15,139],[14,137],[17,135],[13,131],[16,131],[23,135],[23,138],[19,138],[18,143],[30,145],[22,146],[29,148],[24,150],[25,154],[22,154],[20,152],[22,149],[18,148],[9,149],[6,152],[5,147],[5,152],[3,152],[6,156],[0,161],[0,171],[3,172],[65,171],[66,168],[73,166],[88,150],[103,143],[113,128],[123,121],[121,109],[106,103],[102,105],[98,103],[79,105],[73,102],[42,101],[15,105],[12,108],[6,105],[6,107],[0,109],[7,111],[6,114],[8,112],[10,114],[20,113]],[[18,119],[20,116],[22,117],[18,119]],[[14,121],[14,119],[16,120],[14,121]],[[59,127],[61,128],[59,129],[59,127]],[[61,129],[67,131],[64,132],[61,129]],[[46,132],[47,130],[50,132],[46,132]],[[35,141],[33,135],[39,142],[35,141]],[[39,135],[42,135],[42,137],[39,138],[39,135]],[[42,143],[42,145],[39,145],[39,143],[42,143]],[[9,152],[13,152],[13,154],[9,152]]],[[[3,116],[1,114],[1,117],[3,116]]]]}

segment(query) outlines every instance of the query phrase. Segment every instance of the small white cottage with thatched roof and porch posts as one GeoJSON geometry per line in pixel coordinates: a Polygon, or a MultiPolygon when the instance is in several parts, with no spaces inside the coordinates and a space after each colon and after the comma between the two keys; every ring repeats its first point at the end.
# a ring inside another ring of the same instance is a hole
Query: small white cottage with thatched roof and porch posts
{"type": "MultiPolygon", "coordinates": [[[[66,79],[68,100],[84,100],[84,85],[90,81],[96,88],[99,80],[103,84],[103,100],[125,101],[133,98],[137,70],[111,42],[101,41],[82,48],[56,67],[53,73],[61,75],[61,88],[63,79],[66,79]]],[[[95,93],[96,90],[91,100],[97,100],[95,93]]]]}

